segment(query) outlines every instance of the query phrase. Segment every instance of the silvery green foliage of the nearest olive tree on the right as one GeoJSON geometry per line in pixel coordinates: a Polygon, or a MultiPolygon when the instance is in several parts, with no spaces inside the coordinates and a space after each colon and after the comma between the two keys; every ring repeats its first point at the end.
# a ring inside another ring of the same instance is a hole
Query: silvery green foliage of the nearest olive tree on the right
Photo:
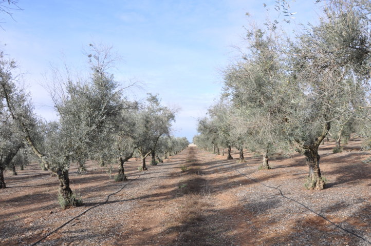
{"type": "Polygon", "coordinates": [[[369,104],[369,9],[367,14],[367,6],[351,1],[330,3],[320,24],[307,28],[289,53],[293,83],[304,92],[290,114],[290,135],[299,146],[369,104]]]}

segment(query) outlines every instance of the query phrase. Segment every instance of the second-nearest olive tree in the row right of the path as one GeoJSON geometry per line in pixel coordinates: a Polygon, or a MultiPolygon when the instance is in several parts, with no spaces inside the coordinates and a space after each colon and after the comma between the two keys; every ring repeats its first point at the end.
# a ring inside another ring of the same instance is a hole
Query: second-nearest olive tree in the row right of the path
{"type": "Polygon", "coordinates": [[[250,54],[225,75],[225,94],[238,109],[239,122],[246,129],[244,142],[263,155],[261,169],[270,169],[269,155],[283,148],[285,142],[281,108],[287,100],[287,73],[274,34],[262,29],[249,32],[250,54]]]}

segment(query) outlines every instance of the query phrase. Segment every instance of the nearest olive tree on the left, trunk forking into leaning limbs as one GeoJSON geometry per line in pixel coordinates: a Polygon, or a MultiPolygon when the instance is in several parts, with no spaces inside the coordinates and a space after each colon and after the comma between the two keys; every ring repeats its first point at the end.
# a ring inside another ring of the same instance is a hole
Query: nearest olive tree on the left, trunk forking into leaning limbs
{"type": "Polygon", "coordinates": [[[50,122],[45,140],[35,141],[32,135],[34,117],[31,115],[30,104],[17,100],[19,94],[11,90],[11,75],[2,81],[3,94],[12,118],[22,128],[23,135],[32,151],[43,162],[43,166],[59,179],[59,196],[62,207],[76,206],[75,198],[69,186],[68,170],[72,162],[84,161],[87,151],[94,144],[95,136],[99,135],[104,126],[113,120],[120,110],[120,90],[113,75],[107,73],[109,67],[109,50],[99,50],[94,46],[89,55],[91,76],[84,80],[73,81],[67,78],[59,88],[53,91],[55,109],[59,120],[50,122]]]}

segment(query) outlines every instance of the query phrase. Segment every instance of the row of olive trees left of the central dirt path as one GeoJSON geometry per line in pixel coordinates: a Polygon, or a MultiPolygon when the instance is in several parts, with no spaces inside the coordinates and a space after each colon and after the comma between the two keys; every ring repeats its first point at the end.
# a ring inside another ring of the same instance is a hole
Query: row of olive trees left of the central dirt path
{"type": "MultiPolygon", "coordinates": [[[[80,202],[69,186],[72,163],[85,169],[90,158],[118,160],[118,180],[125,180],[123,163],[138,151],[142,169],[145,158],[156,153],[159,140],[170,134],[176,110],[149,95],[145,103],[132,102],[108,73],[114,60],[109,49],[90,45],[91,73],[88,78],[62,78],[58,73],[49,86],[59,118],[43,122],[33,113],[29,95],[16,87],[16,65],[0,53],[0,184],[5,188],[4,170],[23,148],[29,148],[43,168],[57,176],[64,206],[80,202]],[[94,153],[94,154],[92,154],[94,153]]],[[[184,147],[184,146],[183,146],[184,147]]],[[[182,147],[182,148],[183,148],[182,147]]]]}

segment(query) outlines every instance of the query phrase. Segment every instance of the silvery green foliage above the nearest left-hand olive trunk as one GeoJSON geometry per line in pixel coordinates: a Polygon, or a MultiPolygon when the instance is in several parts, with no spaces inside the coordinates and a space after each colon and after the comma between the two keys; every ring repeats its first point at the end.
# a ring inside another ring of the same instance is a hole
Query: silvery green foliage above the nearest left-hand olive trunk
{"type": "Polygon", "coordinates": [[[85,162],[99,140],[97,136],[121,110],[118,84],[104,70],[107,65],[102,56],[107,54],[94,51],[89,56],[91,77],[77,81],[67,78],[59,85],[64,90],[52,95],[59,120],[48,124],[41,148],[53,172],[68,170],[72,162],[85,162]]]}

